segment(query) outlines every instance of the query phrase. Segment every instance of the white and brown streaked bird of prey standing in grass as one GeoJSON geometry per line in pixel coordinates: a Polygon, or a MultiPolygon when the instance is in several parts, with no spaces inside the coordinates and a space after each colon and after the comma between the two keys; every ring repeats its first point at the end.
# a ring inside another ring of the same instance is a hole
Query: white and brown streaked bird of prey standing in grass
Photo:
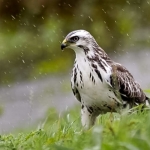
{"type": "Polygon", "coordinates": [[[73,49],[76,55],[71,88],[81,103],[81,123],[85,129],[91,128],[101,114],[150,105],[132,74],[113,61],[88,31],[70,32],[61,43],[61,49],[65,48],[73,49]]]}

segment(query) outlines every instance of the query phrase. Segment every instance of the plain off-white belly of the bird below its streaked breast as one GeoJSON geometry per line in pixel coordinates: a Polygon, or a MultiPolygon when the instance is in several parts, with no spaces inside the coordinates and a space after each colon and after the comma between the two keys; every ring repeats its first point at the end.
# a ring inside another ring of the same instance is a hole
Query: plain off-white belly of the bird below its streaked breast
{"type": "Polygon", "coordinates": [[[114,92],[109,89],[107,83],[102,82],[86,82],[80,91],[82,103],[86,106],[95,108],[96,111],[102,112],[118,111],[119,100],[115,96],[114,92]]]}

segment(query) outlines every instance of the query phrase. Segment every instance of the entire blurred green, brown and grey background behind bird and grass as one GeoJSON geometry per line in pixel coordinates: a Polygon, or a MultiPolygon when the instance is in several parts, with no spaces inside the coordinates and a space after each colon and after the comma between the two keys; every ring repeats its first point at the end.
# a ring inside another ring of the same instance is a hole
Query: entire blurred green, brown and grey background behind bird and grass
{"type": "Polygon", "coordinates": [[[78,103],[70,89],[74,52],[60,50],[72,30],[88,30],[148,89],[149,14],[150,0],[0,0],[0,133],[78,103]]]}

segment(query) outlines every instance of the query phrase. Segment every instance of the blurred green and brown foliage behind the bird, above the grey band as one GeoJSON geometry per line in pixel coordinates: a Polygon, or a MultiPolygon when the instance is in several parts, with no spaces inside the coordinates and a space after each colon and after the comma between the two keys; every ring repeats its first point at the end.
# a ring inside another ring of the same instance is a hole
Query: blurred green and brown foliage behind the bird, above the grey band
{"type": "Polygon", "coordinates": [[[0,83],[66,72],[73,52],[60,44],[76,29],[107,52],[149,46],[149,8],[147,0],[0,1],[0,83]]]}

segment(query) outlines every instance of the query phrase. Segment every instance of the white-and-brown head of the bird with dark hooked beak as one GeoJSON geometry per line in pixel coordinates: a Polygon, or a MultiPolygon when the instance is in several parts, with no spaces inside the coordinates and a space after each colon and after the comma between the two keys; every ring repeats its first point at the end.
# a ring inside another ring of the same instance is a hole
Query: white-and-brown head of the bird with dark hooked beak
{"type": "Polygon", "coordinates": [[[91,40],[93,39],[92,35],[85,30],[75,30],[70,32],[61,44],[61,49],[71,48],[73,50],[81,49],[83,47],[88,47],[91,40]]]}

